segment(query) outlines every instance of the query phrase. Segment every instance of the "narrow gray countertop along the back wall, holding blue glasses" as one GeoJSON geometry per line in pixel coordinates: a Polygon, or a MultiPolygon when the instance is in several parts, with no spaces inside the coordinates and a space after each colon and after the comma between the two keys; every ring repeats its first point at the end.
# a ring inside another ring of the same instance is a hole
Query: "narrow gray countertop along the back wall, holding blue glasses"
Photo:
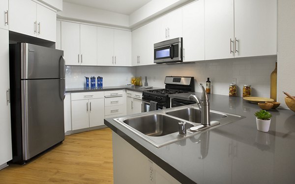
{"type": "Polygon", "coordinates": [[[102,89],[98,89],[96,88],[85,88],[85,87],[81,87],[81,88],[66,88],[65,92],[66,93],[79,93],[79,92],[91,92],[91,91],[111,91],[111,90],[119,90],[119,89],[127,89],[127,90],[131,90],[131,91],[138,91],[138,92],[142,92],[145,90],[150,90],[150,89],[162,89],[159,87],[152,87],[152,88],[148,88],[148,89],[140,89],[140,86],[134,86],[134,87],[127,87],[127,86],[104,86],[102,89]]]}

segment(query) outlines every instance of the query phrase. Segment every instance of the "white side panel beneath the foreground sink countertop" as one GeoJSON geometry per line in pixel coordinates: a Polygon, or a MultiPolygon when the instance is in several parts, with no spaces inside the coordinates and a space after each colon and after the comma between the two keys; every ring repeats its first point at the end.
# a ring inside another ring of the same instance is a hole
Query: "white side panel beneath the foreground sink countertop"
{"type": "Polygon", "coordinates": [[[113,132],[114,184],[180,184],[113,132]]]}

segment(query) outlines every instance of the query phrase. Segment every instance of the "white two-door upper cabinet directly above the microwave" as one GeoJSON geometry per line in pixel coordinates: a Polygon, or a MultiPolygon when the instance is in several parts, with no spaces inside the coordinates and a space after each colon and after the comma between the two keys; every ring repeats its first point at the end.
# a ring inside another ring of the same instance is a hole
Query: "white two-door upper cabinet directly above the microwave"
{"type": "Polygon", "coordinates": [[[156,42],[182,37],[182,9],[177,9],[154,21],[156,42]]]}

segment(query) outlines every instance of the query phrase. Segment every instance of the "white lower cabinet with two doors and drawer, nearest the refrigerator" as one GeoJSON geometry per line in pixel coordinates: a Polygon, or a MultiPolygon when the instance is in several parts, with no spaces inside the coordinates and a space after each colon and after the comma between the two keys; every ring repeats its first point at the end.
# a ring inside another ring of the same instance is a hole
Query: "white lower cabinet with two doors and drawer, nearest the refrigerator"
{"type": "Polygon", "coordinates": [[[104,124],[103,94],[103,92],[85,92],[71,95],[73,131],[104,124]]]}

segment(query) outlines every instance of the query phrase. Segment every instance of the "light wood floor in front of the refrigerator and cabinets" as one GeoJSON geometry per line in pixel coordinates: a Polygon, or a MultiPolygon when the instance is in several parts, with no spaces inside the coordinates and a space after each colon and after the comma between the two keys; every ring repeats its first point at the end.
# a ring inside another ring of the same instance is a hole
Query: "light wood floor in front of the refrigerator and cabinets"
{"type": "Polygon", "coordinates": [[[28,164],[0,170],[0,184],[113,184],[111,130],[67,135],[28,164]]]}

